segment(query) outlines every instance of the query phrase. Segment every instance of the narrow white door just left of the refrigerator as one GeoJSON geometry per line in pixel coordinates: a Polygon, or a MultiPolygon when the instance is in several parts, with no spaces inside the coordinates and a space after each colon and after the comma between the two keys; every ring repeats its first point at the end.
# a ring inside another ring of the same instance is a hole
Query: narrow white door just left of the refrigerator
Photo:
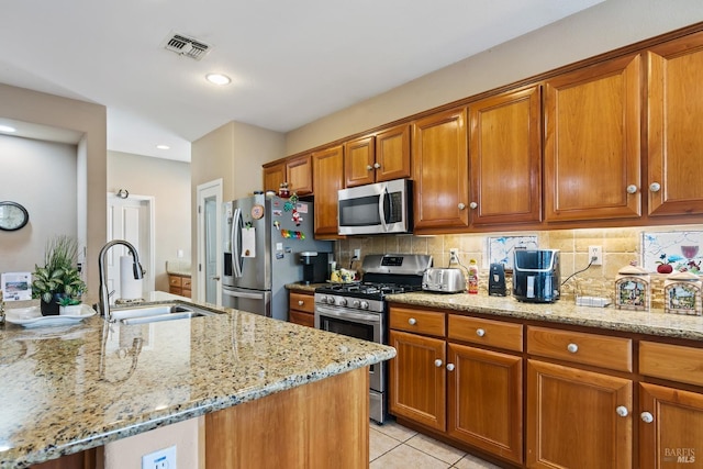
{"type": "Polygon", "coordinates": [[[198,300],[222,305],[222,179],[198,186],[198,300]]]}

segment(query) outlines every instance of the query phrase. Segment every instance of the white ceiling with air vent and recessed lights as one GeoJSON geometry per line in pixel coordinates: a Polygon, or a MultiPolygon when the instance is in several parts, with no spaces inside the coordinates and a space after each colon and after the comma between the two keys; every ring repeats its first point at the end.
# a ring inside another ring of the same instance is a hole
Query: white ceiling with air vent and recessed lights
{"type": "Polygon", "coordinates": [[[288,132],[601,1],[4,2],[0,82],[104,104],[109,149],[188,161],[226,122],[288,132]],[[179,56],[171,32],[213,48],[179,56]]]}

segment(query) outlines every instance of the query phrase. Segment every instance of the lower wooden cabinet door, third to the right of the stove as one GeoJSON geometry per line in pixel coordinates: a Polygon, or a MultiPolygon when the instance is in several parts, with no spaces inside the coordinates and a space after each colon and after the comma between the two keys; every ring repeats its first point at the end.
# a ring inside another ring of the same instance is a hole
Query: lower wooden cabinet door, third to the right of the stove
{"type": "Polygon", "coordinates": [[[528,360],[527,466],[629,468],[632,403],[631,380],[528,360]]]}

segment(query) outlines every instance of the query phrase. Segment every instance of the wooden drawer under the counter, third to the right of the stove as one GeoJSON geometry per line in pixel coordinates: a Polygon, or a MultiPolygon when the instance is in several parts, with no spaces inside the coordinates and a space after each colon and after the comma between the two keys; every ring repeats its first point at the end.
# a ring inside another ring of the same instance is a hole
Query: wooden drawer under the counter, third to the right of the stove
{"type": "Polygon", "coordinates": [[[527,327],[527,353],[618,371],[633,370],[629,338],[527,327]]]}

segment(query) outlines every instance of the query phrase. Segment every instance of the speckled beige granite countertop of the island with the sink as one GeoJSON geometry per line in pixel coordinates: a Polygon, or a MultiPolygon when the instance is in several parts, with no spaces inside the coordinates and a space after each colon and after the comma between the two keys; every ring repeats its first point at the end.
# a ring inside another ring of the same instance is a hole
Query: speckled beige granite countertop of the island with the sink
{"type": "Polygon", "coordinates": [[[94,315],[75,325],[0,326],[0,468],[101,446],[395,355],[392,347],[221,310],[141,325],[94,315]]]}

